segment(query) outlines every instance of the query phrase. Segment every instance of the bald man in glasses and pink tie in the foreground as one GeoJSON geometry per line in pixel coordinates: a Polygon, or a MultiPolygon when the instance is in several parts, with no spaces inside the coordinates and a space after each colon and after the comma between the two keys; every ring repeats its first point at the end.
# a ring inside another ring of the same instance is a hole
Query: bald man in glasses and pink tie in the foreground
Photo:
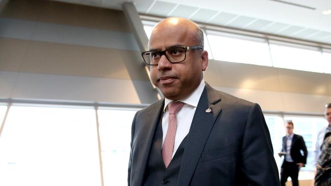
{"type": "Polygon", "coordinates": [[[165,98],[134,116],[128,185],[280,185],[260,106],[205,83],[203,48],[188,19],[154,27],[142,56],[165,98]]]}

